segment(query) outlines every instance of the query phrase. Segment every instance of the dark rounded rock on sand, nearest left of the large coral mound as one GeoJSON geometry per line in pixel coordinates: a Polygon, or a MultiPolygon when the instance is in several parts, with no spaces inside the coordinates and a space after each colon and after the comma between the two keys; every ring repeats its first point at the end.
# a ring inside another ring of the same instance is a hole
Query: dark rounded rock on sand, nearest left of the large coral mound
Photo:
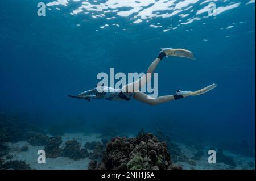
{"type": "Polygon", "coordinates": [[[63,149],[63,157],[68,157],[74,160],[82,159],[88,157],[87,149],[80,149],[81,144],[77,140],[68,140],[65,142],[65,147],[63,149]]]}

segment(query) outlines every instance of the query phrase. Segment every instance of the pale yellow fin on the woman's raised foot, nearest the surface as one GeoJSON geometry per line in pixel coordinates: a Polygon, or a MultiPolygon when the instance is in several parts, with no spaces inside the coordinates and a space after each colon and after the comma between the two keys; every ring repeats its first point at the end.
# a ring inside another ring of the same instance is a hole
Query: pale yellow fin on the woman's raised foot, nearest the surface
{"type": "Polygon", "coordinates": [[[185,57],[192,60],[195,60],[195,57],[193,53],[189,50],[181,49],[181,48],[161,48],[164,53],[166,53],[166,56],[175,56],[175,57],[185,57]]]}

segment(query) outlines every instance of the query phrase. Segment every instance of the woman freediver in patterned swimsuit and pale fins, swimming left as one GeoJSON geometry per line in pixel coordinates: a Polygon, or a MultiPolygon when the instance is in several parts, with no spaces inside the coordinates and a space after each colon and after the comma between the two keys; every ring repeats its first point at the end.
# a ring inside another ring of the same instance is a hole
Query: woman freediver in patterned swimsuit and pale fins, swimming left
{"type": "Polygon", "coordinates": [[[159,56],[152,62],[152,64],[148,68],[147,74],[139,78],[137,81],[123,86],[122,89],[114,89],[112,87],[106,86],[96,86],[94,89],[82,92],[78,96],[68,96],[72,98],[86,99],[89,101],[90,99],[130,100],[133,98],[135,100],[138,100],[139,102],[143,102],[150,105],[156,105],[170,102],[171,100],[186,98],[188,96],[204,94],[205,92],[208,92],[217,86],[215,83],[213,83],[212,85],[209,85],[207,87],[204,87],[203,89],[193,92],[177,90],[176,94],[174,95],[159,96],[158,98],[152,98],[151,96],[139,91],[141,87],[146,85],[146,83],[151,80],[151,74],[154,73],[156,66],[158,66],[159,62],[162,61],[162,59],[166,56],[185,57],[190,58],[192,60],[195,59],[193,57],[193,53],[188,50],[162,48],[162,51],[160,51],[159,56]]]}

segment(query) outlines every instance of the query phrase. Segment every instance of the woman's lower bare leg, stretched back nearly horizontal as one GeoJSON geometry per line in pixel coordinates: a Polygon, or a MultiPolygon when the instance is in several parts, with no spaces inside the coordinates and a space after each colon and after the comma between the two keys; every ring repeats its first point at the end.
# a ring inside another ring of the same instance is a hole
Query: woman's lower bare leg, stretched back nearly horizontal
{"type": "Polygon", "coordinates": [[[135,93],[133,98],[135,100],[138,100],[139,102],[143,102],[143,103],[154,106],[156,104],[166,103],[166,102],[170,102],[172,100],[177,100],[184,97],[182,95],[165,95],[165,96],[160,96],[158,98],[152,98],[151,96],[138,91],[135,93]]]}

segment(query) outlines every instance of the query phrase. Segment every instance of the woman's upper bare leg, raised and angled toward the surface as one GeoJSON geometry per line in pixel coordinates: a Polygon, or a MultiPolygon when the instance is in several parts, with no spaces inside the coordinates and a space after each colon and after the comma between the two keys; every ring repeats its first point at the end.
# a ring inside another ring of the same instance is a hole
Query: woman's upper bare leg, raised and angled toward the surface
{"type": "Polygon", "coordinates": [[[151,63],[149,66],[147,73],[139,78],[137,81],[129,83],[122,87],[122,92],[137,92],[141,87],[143,87],[146,82],[151,80],[152,73],[154,73],[156,66],[158,66],[159,62],[166,56],[164,51],[161,51],[159,56],[151,63]]]}

